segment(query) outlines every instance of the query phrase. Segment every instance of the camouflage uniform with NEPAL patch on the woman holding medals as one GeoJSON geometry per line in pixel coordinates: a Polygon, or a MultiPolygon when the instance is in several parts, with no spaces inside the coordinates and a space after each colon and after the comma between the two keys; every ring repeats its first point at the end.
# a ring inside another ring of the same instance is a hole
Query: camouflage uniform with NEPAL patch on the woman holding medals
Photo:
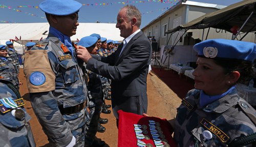
{"type": "Polygon", "coordinates": [[[255,124],[247,116],[255,117],[256,111],[238,96],[236,89],[203,108],[199,96],[199,90],[189,91],[177,109],[174,139],[178,146],[198,146],[204,139],[204,130],[212,134],[212,138],[203,143],[207,147],[227,146],[237,137],[256,132],[255,124]]]}

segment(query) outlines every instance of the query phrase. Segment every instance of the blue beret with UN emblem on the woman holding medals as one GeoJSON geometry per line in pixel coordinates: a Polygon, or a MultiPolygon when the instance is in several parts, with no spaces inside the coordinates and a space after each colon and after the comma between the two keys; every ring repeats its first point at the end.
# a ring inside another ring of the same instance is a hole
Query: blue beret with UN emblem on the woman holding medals
{"type": "Polygon", "coordinates": [[[210,39],[194,46],[199,56],[229,58],[253,62],[256,59],[256,44],[227,39],[210,39]]]}

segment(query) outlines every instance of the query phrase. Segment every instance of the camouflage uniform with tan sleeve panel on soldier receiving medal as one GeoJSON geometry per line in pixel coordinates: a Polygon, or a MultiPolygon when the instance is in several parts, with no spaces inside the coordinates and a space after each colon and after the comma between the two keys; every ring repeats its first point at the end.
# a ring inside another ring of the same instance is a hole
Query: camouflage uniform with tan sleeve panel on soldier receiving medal
{"type": "Polygon", "coordinates": [[[26,51],[24,73],[31,104],[52,146],[67,146],[72,135],[76,138],[75,146],[84,146],[84,126],[88,112],[84,107],[87,87],[82,64],[52,34],[26,51]],[[46,52],[40,55],[40,60],[32,58],[40,52],[46,52]],[[45,58],[46,61],[42,61],[45,58]],[[33,66],[29,67],[31,63],[33,66]],[[35,71],[46,77],[46,81],[38,86],[30,81],[31,73],[35,71]]]}

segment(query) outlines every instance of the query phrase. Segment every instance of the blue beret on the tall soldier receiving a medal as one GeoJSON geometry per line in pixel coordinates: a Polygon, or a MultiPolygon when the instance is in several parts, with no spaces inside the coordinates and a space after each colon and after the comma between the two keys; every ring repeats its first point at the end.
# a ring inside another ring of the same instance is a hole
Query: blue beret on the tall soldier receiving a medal
{"type": "Polygon", "coordinates": [[[39,4],[39,8],[48,14],[69,15],[77,12],[82,4],[73,0],[46,0],[39,4]]]}

